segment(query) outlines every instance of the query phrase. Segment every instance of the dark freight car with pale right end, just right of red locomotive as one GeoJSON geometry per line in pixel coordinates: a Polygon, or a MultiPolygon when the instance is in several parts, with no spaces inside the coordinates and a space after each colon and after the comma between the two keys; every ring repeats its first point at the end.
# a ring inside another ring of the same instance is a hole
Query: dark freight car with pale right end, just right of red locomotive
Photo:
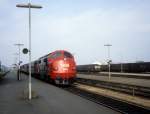
{"type": "Polygon", "coordinates": [[[101,66],[98,64],[77,65],[78,72],[100,72],[101,66]]]}

